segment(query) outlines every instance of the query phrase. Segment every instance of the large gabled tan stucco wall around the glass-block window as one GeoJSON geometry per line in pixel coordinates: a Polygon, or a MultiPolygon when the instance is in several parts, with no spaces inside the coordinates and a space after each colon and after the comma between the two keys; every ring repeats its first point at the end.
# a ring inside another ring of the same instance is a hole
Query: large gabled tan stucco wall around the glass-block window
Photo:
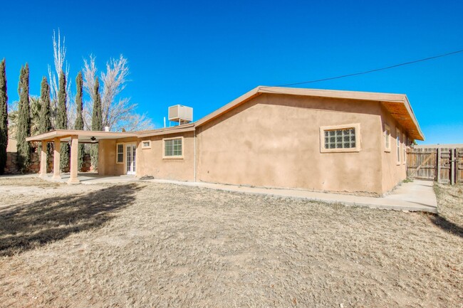
{"type": "Polygon", "coordinates": [[[381,115],[379,102],[260,95],[198,128],[197,181],[381,194],[381,115]],[[360,152],[320,152],[320,127],[357,123],[360,152]]]}

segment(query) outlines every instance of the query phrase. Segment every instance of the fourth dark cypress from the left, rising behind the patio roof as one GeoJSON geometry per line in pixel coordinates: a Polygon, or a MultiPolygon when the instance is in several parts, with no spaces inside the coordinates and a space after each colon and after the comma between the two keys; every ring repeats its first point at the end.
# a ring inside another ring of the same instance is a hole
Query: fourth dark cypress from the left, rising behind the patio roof
{"type": "MultiPolygon", "coordinates": [[[[56,129],[68,129],[68,112],[66,110],[66,75],[61,70],[58,86],[58,110],[56,112],[56,129]]],[[[64,171],[69,166],[69,144],[65,143],[61,146],[60,166],[64,171]]]]}

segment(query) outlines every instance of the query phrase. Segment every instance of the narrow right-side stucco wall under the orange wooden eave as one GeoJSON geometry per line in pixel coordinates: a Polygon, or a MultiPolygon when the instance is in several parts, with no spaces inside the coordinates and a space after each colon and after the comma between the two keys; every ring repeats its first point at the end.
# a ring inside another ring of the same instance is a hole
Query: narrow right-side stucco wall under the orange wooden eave
{"type": "MultiPolygon", "coordinates": [[[[381,142],[381,156],[383,161],[383,192],[390,191],[392,188],[400,184],[407,178],[407,165],[403,157],[403,147],[407,144],[403,143],[402,134],[404,130],[398,126],[397,121],[390,115],[385,108],[382,108],[381,114],[381,129],[383,131],[383,142],[381,142]],[[390,151],[385,147],[385,124],[390,127],[390,151]],[[397,127],[400,129],[400,164],[397,164],[397,127]]],[[[405,158],[406,159],[406,158],[405,158]]]]}

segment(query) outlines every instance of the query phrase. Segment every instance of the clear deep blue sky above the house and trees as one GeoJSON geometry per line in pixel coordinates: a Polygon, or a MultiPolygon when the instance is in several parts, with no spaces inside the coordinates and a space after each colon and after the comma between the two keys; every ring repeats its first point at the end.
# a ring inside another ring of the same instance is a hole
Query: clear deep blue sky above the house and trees
{"type": "MultiPolygon", "coordinates": [[[[83,58],[95,55],[103,69],[122,53],[131,80],[123,96],[157,127],[170,105],[194,107],[197,120],[257,85],[463,49],[463,1],[5,0],[0,9],[9,102],[18,99],[26,62],[31,94],[39,95],[53,64],[53,29],[60,28],[73,86],[83,58]]],[[[463,53],[301,87],[405,93],[425,144],[463,143],[463,53]]]]}

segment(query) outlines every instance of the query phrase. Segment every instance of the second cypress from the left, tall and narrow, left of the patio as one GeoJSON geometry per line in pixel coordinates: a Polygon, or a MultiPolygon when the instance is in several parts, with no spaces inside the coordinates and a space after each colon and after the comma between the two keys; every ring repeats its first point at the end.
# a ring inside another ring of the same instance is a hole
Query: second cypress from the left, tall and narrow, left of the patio
{"type": "Polygon", "coordinates": [[[29,65],[21,66],[19,75],[19,106],[16,122],[16,142],[18,142],[18,167],[26,171],[31,162],[31,147],[26,142],[26,137],[31,134],[31,111],[29,105],[29,65]]]}

